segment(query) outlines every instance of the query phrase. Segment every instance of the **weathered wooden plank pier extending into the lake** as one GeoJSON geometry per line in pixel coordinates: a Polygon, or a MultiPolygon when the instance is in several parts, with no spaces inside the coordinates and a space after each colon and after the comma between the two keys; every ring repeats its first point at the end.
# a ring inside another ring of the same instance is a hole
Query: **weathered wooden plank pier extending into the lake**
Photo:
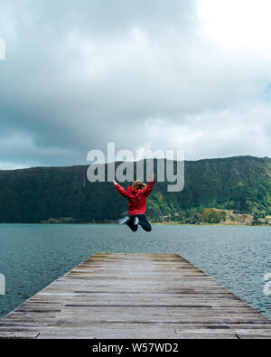
{"type": "Polygon", "coordinates": [[[271,321],[178,254],[97,253],[0,320],[0,338],[271,338],[271,321]]]}

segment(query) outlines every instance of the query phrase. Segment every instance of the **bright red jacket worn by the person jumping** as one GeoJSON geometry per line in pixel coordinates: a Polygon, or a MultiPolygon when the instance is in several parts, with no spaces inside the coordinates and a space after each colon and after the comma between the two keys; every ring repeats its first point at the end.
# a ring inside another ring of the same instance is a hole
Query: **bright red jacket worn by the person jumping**
{"type": "Polygon", "coordinates": [[[148,195],[152,192],[154,181],[150,181],[144,190],[135,190],[133,186],[129,186],[125,190],[120,184],[116,184],[117,191],[129,200],[129,214],[145,214],[145,203],[148,195]]]}

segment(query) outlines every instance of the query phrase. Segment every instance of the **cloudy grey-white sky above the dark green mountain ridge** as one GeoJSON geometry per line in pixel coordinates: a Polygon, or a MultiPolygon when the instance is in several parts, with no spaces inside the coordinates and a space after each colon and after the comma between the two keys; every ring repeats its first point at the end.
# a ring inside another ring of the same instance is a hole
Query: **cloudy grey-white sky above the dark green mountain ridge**
{"type": "Polygon", "coordinates": [[[271,156],[270,0],[0,0],[0,169],[271,156]]]}

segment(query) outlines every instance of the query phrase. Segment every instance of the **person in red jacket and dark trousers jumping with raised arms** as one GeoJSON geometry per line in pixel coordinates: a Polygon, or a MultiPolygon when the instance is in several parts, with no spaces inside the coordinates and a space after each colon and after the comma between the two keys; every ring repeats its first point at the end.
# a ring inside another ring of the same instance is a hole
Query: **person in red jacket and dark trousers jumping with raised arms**
{"type": "Polygon", "coordinates": [[[146,199],[152,192],[154,187],[154,176],[148,185],[135,181],[131,186],[125,190],[116,181],[113,182],[117,191],[129,200],[129,216],[119,220],[119,224],[124,224],[130,227],[131,230],[136,231],[138,224],[146,231],[151,231],[152,226],[145,217],[146,199]]]}

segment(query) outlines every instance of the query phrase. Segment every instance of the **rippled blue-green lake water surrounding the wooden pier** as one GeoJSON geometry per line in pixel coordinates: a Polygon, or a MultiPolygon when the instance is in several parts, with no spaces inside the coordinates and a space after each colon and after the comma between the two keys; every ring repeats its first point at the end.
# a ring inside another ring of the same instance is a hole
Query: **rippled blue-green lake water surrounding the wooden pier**
{"type": "Polygon", "coordinates": [[[98,251],[179,253],[271,318],[271,296],[263,293],[270,227],[154,225],[151,233],[133,233],[115,224],[1,224],[0,317],[98,251]]]}

